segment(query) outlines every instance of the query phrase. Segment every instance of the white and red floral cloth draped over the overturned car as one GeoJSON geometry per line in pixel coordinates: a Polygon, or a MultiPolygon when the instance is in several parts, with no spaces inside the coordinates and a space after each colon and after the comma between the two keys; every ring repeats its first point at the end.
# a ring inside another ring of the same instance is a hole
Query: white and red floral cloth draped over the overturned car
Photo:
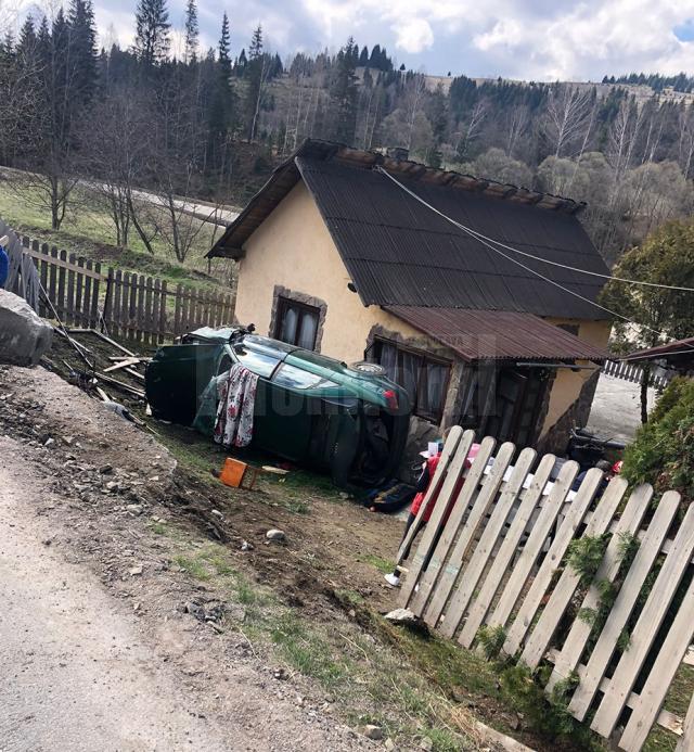
{"type": "Polygon", "coordinates": [[[218,382],[219,405],[215,442],[223,446],[248,446],[253,439],[253,413],[258,377],[241,364],[234,364],[226,379],[218,382]]]}

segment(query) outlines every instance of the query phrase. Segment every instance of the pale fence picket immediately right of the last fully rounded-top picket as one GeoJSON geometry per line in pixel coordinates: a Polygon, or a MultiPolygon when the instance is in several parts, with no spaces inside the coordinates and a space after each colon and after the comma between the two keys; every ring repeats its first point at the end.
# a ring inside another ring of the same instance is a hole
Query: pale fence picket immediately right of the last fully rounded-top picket
{"type": "MultiPolygon", "coordinates": [[[[663,499],[668,495],[677,496],[679,501],[677,492],[668,492],[663,499]]],[[[694,507],[690,507],[684,515],[672,550],[668,553],[653,590],[639,615],[639,621],[631,633],[629,650],[624,652],[619,659],[609,683],[609,689],[597,708],[591,728],[601,736],[608,737],[619,719],[625,701],[631,692],[653,640],[670,607],[672,597],[682,581],[684,571],[692,558],[692,551],[694,551],[694,507]]],[[[612,613],[616,614],[616,609],[613,609],[612,613]]]]}

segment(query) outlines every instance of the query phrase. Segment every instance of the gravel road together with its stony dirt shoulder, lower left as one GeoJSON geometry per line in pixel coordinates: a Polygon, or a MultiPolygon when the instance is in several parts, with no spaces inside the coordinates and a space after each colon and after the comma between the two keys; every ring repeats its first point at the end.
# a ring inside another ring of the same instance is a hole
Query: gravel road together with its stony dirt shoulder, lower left
{"type": "Polygon", "coordinates": [[[100,406],[52,374],[3,375],[0,752],[369,745],[297,703],[291,683],[273,679],[272,666],[248,654],[242,637],[220,640],[182,613],[190,586],[169,571],[162,544],[143,534],[145,518],[133,518],[106,488],[86,487],[83,479],[100,472],[90,468],[108,457],[130,458],[129,474],[114,468],[103,476],[131,483],[130,494],[145,473],[165,483],[166,450],[119,418],[100,415],[100,406]],[[16,404],[20,382],[17,412],[25,411],[15,424],[8,400],[16,404]],[[40,399],[48,394],[53,398],[40,399]],[[77,416],[73,442],[65,433],[77,416]],[[44,428],[36,428],[39,421],[44,428]],[[57,444],[41,431],[72,442],[68,456],[77,459],[55,453],[57,444]]]}

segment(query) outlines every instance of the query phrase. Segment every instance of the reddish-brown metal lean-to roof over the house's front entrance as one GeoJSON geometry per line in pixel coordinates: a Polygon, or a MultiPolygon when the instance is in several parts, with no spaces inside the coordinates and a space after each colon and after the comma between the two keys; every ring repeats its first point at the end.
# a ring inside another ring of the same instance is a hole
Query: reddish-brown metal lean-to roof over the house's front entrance
{"type": "Polygon", "coordinates": [[[608,354],[532,314],[384,306],[464,360],[605,360],[608,354]]]}

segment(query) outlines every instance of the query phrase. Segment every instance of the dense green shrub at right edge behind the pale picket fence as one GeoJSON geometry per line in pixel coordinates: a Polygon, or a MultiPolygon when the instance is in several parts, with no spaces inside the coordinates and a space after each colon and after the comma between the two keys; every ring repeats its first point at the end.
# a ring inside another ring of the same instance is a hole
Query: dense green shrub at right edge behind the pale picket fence
{"type": "Polygon", "coordinates": [[[673,379],[625,451],[624,476],[694,499],[694,380],[673,379]]]}

